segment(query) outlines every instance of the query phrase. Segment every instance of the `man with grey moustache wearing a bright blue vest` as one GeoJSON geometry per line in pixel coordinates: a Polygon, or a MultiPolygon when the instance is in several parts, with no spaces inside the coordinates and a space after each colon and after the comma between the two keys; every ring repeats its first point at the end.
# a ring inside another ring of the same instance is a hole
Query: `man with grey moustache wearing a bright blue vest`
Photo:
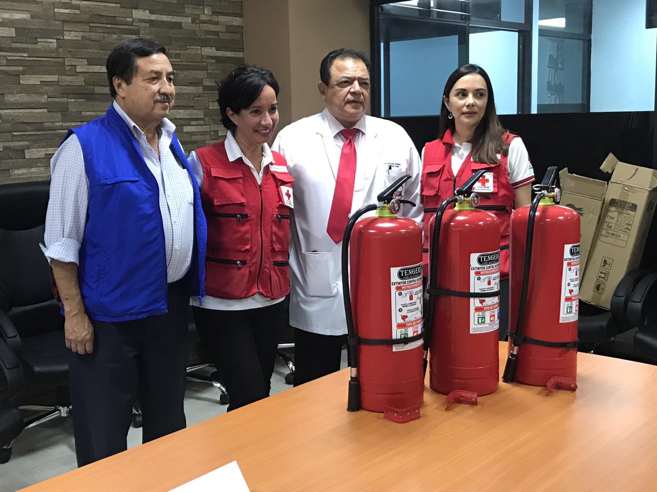
{"type": "Polygon", "coordinates": [[[126,449],[135,400],[144,442],[185,427],[187,305],[204,295],[206,220],[167,119],[166,49],[124,41],[106,69],[114,102],[51,160],[43,247],[65,316],[78,466],[126,449]]]}

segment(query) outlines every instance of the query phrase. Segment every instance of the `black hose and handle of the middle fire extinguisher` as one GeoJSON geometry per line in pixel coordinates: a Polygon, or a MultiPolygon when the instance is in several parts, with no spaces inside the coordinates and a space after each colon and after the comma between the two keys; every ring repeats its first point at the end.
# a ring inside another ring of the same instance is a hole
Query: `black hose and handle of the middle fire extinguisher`
{"type": "Polygon", "coordinates": [[[472,174],[472,176],[470,176],[470,178],[464,182],[462,186],[459,186],[458,190],[456,190],[457,196],[450,197],[443,201],[443,203],[440,204],[440,207],[438,207],[438,210],[436,211],[436,218],[434,219],[434,235],[430,243],[434,245],[434,247],[430,248],[429,250],[429,281],[427,287],[431,290],[427,289],[429,291],[429,300],[427,302],[426,316],[424,316],[424,345],[422,346],[422,371],[424,375],[426,375],[426,365],[434,324],[436,294],[431,293],[431,291],[435,291],[436,287],[438,287],[438,285],[436,285],[438,283],[438,241],[440,241],[440,226],[443,222],[443,214],[445,213],[447,207],[451,205],[451,203],[457,203],[459,201],[458,196],[470,195],[472,192],[472,186],[474,186],[474,184],[482,178],[484,173],[486,173],[486,170],[480,169],[480,171],[476,171],[476,173],[472,174]]]}

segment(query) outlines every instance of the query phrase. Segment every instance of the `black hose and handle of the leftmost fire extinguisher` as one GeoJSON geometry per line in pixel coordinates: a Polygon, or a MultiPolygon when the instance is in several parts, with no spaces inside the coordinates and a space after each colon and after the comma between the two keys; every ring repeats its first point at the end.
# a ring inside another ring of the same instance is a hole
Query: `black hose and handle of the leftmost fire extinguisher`
{"type": "MultiPolygon", "coordinates": [[[[390,202],[395,192],[407,180],[411,179],[409,174],[401,176],[396,182],[388,186],[383,192],[378,194],[376,199],[380,202],[390,202]]],[[[413,204],[415,206],[415,204],[413,204]]],[[[358,209],[347,222],[347,227],[342,236],[342,298],[344,300],[344,314],[347,318],[347,350],[349,350],[349,359],[351,367],[351,377],[349,379],[349,392],[347,396],[347,410],[357,412],[361,409],[361,385],[358,380],[358,337],[355,327],[353,326],[353,311],[351,310],[351,291],[349,285],[349,241],[351,231],[361,216],[368,212],[378,209],[378,205],[371,203],[358,209]]]]}

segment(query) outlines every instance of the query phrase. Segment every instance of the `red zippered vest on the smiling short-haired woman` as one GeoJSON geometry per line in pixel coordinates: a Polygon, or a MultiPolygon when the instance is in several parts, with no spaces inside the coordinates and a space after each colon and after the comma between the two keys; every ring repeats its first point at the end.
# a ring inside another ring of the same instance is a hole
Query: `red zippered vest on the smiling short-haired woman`
{"type": "Polygon", "coordinates": [[[258,181],[240,158],[228,160],[223,142],[196,150],[203,167],[201,201],[208,219],[206,293],[243,299],[290,292],[292,181],[283,155],[258,181]]]}

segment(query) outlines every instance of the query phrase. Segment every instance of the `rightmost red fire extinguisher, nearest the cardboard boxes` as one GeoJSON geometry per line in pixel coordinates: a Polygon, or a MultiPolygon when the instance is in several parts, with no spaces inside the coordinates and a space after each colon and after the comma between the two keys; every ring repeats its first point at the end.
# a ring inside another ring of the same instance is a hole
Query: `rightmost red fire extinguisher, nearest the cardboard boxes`
{"type": "Polygon", "coordinates": [[[579,214],[556,205],[556,166],[510,228],[509,359],[502,379],[576,390],[579,214]],[[521,350],[522,349],[522,350],[521,350]]]}

